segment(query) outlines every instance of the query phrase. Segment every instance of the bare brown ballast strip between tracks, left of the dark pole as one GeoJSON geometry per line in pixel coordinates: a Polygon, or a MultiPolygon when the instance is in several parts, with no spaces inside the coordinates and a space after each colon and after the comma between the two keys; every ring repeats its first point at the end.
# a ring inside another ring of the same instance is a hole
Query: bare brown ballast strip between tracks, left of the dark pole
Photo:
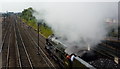
{"type": "MultiPolygon", "coordinates": [[[[19,24],[17,24],[17,25],[19,25],[19,24]]],[[[35,68],[44,66],[45,63],[42,61],[42,58],[38,57],[35,45],[30,40],[30,37],[28,37],[28,34],[24,32],[25,29],[21,28],[21,25],[19,25],[19,29],[22,33],[22,38],[23,38],[23,41],[25,42],[25,47],[26,47],[26,50],[28,51],[28,54],[30,56],[33,66],[35,68]]]]}

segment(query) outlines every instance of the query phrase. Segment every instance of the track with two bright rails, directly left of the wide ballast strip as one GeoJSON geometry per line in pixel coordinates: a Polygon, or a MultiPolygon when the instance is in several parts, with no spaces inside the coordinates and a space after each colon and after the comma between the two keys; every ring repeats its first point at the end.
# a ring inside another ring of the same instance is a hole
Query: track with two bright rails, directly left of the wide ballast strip
{"type": "Polygon", "coordinates": [[[23,39],[21,37],[20,34],[20,30],[17,26],[17,24],[15,24],[15,31],[16,31],[16,37],[17,37],[17,50],[19,51],[19,63],[21,68],[30,68],[33,69],[33,65],[32,62],[29,58],[28,52],[26,50],[25,44],[23,42],[23,39]]]}

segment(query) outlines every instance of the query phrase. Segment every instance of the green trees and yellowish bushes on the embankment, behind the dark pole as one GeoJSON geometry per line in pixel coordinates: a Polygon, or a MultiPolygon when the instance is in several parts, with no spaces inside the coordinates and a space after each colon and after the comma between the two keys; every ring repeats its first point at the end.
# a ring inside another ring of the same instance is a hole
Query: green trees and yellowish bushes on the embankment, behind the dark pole
{"type": "MultiPolygon", "coordinates": [[[[32,28],[37,30],[37,20],[33,16],[33,13],[35,10],[33,10],[31,7],[28,9],[24,9],[22,11],[22,14],[20,15],[20,18],[27,23],[27,25],[31,26],[32,28]]],[[[45,37],[48,37],[51,35],[53,32],[51,28],[49,28],[46,23],[40,23],[40,33],[43,34],[45,37]]]]}

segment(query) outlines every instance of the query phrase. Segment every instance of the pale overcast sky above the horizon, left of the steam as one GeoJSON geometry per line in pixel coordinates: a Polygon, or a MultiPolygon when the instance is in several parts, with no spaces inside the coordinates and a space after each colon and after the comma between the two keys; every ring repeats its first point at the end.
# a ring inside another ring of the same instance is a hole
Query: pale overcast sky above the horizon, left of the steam
{"type": "Polygon", "coordinates": [[[41,2],[118,2],[119,0],[0,0],[0,12],[20,12],[41,2]],[[34,3],[33,3],[34,2],[34,3]]]}

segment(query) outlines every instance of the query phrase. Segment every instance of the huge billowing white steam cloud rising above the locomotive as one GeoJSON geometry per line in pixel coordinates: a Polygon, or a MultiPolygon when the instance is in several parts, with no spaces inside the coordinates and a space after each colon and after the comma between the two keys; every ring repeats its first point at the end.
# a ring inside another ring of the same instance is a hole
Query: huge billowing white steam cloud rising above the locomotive
{"type": "Polygon", "coordinates": [[[66,46],[95,46],[107,34],[106,19],[117,19],[117,3],[59,2],[34,7],[38,20],[44,19],[66,46]]]}

